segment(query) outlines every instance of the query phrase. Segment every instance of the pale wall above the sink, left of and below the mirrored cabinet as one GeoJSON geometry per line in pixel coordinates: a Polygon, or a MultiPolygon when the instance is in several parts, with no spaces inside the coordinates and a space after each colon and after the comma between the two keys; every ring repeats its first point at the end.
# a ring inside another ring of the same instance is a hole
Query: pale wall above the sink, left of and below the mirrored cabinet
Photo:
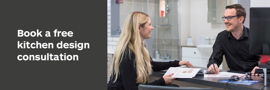
{"type": "MultiPolygon", "coordinates": [[[[210,38],[214,38],[225,29],[224,23],[207,22],[207,0],[181,0],[181,45],[187,45],[188,36],[192,36],[193,45],[196,46],[199,35],[208,35],[210,38]]],[[[211,40],[209,44],[214,44],[214,41],[211,40]]]]}

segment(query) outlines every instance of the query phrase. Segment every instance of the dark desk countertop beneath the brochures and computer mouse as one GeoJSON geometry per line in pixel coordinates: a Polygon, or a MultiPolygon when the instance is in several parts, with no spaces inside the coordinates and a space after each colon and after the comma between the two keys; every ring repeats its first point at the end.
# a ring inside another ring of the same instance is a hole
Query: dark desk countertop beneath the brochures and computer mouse
{"type": "MultiPolygon", "coordinates": [[[[194,67],[194,68],[202,68],[204,70],[208,70],[205,67],[194,67]]],[[[155,77],[163,77],[163,75],[166,73],[167,70],[162,70],[162,71],[154,71],[154,73],[151,76],[155,77]]],[[[232,73],[242,73],[245,74],[245,72],[238,72],[238,71],[229,71],[229,70],[220,70],[220,72],[232,72],[232,73]]],[[[261,81],[252,85],[242,85],[242,84],[232,84],[228,83],[226,86],[226,89],[232,89],[232,90],[260,90],[264,86],[264,79],[262,79],[260,76],[251,76],[251,78],[255,81],[261,81]]],[[[225,80],[229,78],[213,78],[213,77],[204,77],[203,75],[196,75],[193,78],[176,78],[175,80],[177,81],[182,81],[182,82],[190,82],[194,84],[200,84],[200,85],[207,85],[207,86],[212,86],[212,87],[217,87],[217,88],[223,88],[225,83],[224,82],[219,82],[221,80],[225,80]]],[[[240,78],[244,79],[244,78],[240,78]]],[[[268,87],[267,87],[268,88],[268,87]]],[[[269,89],[269,88],[268,88],[269,89]]],[[[267,90],[264,88],[263,90],[267,90]]]]}

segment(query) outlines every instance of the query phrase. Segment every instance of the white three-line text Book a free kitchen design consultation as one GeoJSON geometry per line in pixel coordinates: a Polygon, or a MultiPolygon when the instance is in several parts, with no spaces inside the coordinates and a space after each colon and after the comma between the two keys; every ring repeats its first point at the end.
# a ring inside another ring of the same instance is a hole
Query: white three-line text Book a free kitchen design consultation
{"type": "MultiPolygon", "coordinates": [[[[18,30],[18,37],[43,37],[41,34],[42,31],[23,31],[23,30],[18,30]]],[[[53,31],[54,37],[72,37],[73,32],[69,31],[57,31],[55,29],[53,31]]],[[[51,37],[51,34],[49,31],[46,31],[45,34],[46,37],[51,37]]],[[[77,49],[77,50],[82,50],[82,49],[89,49],[90,45],[89,43],[77,43],[77,41],[74,41],[70,43],[68,42],[63,42],[59,41],[55,45],[58,49],[77,49]]],[[[39,41],[18,41],[18,49],[53,49],[54,47],[53,43],[40,43],[39,41]]],[[[66,53],[60,55],[52,55],[52,53],[46,53],[45,55],[18,55],[17,59],[19,61],[21,60],[42,60],[42,61],[70,61],[70,60],[78,60],[79,56],[78,55],[67,55],[66,53]]]]}

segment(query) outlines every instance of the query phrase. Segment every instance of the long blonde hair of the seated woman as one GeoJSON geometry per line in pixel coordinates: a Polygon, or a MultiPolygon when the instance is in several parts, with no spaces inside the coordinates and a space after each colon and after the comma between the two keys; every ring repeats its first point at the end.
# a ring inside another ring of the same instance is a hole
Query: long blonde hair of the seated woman
{"type": "Polygon", "coordinates": [[[135,54],[137,84],[144,84],[147,82],[149,75],[152,74],[152,66],[150,64],[150,56],[145,47],[144,41],[141,40],[139,25],[144,26],[149,16],[142,12],[132,12],[125,20],[122,33],[119,37],[115,53],[113,55],[113,63],[111,68],[112,75],[115,75],[116,81],[119,75],[119,64],[123,59],[123,55],[128,46],[129,55],[131,51],[135,54]]]}

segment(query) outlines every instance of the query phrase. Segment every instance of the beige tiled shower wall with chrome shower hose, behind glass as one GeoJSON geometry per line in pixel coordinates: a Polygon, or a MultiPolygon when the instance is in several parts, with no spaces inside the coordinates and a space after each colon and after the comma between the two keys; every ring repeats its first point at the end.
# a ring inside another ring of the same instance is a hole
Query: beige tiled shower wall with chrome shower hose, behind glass
{"type": "MultiPolygon", "coordinates": [[[[155,51],[158,50],[160,56],[164,56],[166,53],[170,56],[170,59],[178,59],[178,0],[169,0],[169,24],[171,32],[169,32],[168,27],[160,27],[161,24],[167,24],[167,17],[159,16],[159,1],[157,1],[155,15],[156,15],[156,25],[154,26],[153,35],[153,57],[155,58],[155,51]],[[170,34],[172,34],[172,41],[170,42],[170,34]],[[162,35],[165,43],[162,43],[162,35]]],[[[151,19],[152,20],[152,19],[151,19]]]]}

